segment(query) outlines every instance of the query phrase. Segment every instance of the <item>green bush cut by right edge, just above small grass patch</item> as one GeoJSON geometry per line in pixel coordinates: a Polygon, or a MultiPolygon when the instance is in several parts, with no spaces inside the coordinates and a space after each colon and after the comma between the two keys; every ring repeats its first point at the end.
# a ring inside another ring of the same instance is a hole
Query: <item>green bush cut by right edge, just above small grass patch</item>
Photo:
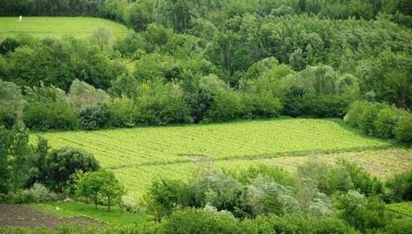
{"type": "Polygon", "coordinates": [[[412,201],[412,170],[395,174],[386,181],[396,201],[412,201]]]}

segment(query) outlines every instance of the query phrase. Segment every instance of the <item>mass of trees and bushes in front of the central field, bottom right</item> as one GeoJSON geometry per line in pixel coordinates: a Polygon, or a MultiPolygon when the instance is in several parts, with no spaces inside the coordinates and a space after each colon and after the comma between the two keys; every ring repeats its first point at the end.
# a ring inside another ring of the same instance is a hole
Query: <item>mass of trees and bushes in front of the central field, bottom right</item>
{"type": "Polygon", "coordinates": [[[410,223],[384,202],[410,200],[411,182],[411,171],[383,183],[355,163],[311,160],[294,174],[208,168],[187,182],[158,180],[145,201],[167,233],[396,233],[410,223]]]}

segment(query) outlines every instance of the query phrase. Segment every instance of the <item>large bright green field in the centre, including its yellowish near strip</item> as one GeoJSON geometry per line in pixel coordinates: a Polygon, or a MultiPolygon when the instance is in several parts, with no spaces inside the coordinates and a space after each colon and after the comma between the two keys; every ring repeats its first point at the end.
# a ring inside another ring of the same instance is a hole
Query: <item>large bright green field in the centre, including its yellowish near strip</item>
{"type": "Polygon", "coordinates": [[[316,155],[330,163],[343,157],[381,178],[412,165],[412,151],[393,149],[388,141],[362,136],[336,120],[239,121],[43,135],[54,148],[82,147],[95,155],[103,167],[116,172],[133,197],[141,196],[154,179],[185,180],[210,163],[228,170],[262,163],[293,171],[316,155]]]}

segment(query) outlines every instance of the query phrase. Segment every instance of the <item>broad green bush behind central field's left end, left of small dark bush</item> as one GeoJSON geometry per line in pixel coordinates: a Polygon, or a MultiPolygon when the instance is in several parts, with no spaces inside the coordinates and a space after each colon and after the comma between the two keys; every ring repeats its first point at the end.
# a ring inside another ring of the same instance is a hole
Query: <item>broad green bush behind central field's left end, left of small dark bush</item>
{"type": "Polygon", "coordinates": [[[78,115],[65,102],[31,103],[24,112],[24,122],[32,130],[73,130],[78,125],[78,115]]]}

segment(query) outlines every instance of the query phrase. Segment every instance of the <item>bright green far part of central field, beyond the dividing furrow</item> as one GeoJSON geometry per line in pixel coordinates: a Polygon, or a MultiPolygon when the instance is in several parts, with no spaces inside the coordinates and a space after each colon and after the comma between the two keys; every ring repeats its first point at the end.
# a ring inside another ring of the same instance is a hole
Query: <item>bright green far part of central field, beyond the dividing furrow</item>
{"type": "Polygon", "coordinates": [[[80,146],[102,166],[119,168],[176,163],[199,157],[257,158],[294,152],[348,151],[390,146],[365,138],[339,122],[313,119],[47,133],[51,146],[80,146]]]}

